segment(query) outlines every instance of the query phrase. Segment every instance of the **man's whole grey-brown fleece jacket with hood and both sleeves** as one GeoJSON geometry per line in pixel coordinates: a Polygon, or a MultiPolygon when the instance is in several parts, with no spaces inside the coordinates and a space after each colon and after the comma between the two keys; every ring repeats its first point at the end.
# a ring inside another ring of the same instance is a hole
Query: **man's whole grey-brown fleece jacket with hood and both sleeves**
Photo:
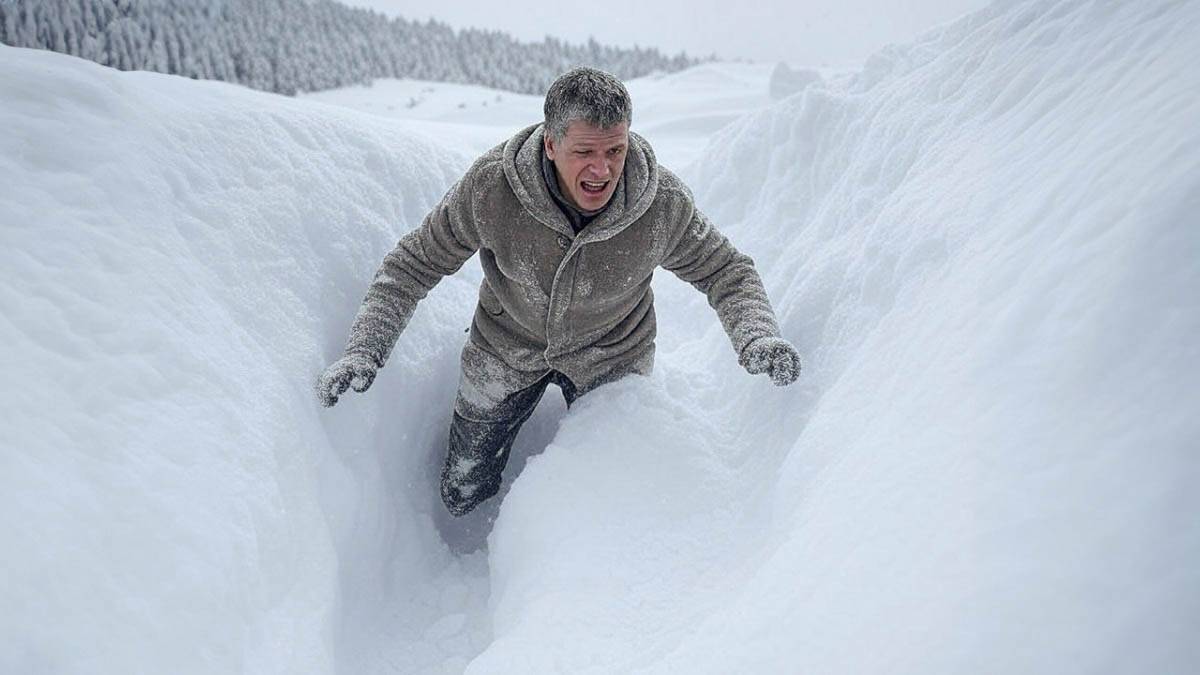
{"type": "Polygon", "coordinates": [[[383,366],[416,303],[475,252],[484,282],[464,381],[516,390],[550,370],[580,393],[654,364],[650,277],[671,270],[708,297],[740,354],[779,325],[754,261],[701,214],[649,143],[629,153],[604,211],[578,234],[542,174],[542,125],[481,156],[384,257],[346,346],[383,366]]]}

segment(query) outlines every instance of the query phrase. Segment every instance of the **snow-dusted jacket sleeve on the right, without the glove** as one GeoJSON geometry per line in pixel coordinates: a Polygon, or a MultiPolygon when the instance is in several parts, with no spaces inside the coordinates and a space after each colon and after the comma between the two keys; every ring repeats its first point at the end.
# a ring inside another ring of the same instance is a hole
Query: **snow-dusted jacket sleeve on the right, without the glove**
{"type": "Polygon", "coordinates": [[[755,339],[779,336],[779,322],[754,259],[734,249],[690,198],[682,210],[688,226],[662,267],[708,297],[739,357],[755,339]]]}

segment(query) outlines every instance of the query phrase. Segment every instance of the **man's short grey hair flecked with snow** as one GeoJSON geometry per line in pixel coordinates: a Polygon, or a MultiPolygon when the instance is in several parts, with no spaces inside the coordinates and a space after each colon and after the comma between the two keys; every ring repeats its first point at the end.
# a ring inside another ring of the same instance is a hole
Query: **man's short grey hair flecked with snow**
{"type": "Polygon", "coordinates": [[[578,67],[560,74],[546,91],[546,131],[556,139],[566,136],[572,121],[586,121],[600,129],[634,121],[634,102],[625,85],[616,77],[578,67]]]}

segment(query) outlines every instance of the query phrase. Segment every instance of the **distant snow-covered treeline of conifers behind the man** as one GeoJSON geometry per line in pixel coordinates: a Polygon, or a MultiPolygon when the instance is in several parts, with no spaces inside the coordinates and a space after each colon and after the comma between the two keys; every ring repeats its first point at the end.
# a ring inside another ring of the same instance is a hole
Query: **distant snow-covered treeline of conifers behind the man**
{"type": "Polygon", "coordinates": [[[379,77],[542,94],[575,65],[626,79],[697,62],[595,41],[528,43],[499,31],[455,31],[332,0],[0,0],[0,42],[287,95],[379,77]]]}

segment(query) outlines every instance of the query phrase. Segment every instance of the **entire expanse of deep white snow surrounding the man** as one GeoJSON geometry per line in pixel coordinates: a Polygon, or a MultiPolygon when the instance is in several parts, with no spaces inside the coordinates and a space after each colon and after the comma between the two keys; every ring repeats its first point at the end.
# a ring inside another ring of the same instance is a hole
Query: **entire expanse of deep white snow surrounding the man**
{"type": "Polygon", "coordinates": [[[540,100],[0,47],[0,671],[1196,671],[1198,61],[1194,1],[1000,2],[781,101],[630,83],[805,370],[660,275],[655,374],[547,395],[452,520],[474,263],[312,383],[540,100]]]}

